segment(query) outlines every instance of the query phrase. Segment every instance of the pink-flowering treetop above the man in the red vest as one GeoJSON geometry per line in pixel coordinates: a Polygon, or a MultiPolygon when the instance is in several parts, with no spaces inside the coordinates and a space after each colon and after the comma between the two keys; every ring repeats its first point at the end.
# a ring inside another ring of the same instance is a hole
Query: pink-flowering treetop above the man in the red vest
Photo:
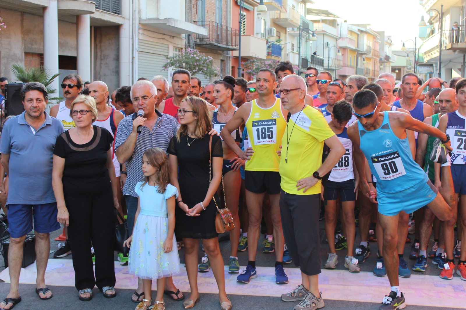
{"type": "Polygon", "coordinates": [[[204,75],[210,79],[220,75],[220,69],[214,68],[212,64],[212,57],[206,56],[196,49],[187,48],[181,54],[167,56],[167,63],[164,64],[163,68],[165,70],[169,68],[186,69],[191,72],[191,75],[204,75]]]}

